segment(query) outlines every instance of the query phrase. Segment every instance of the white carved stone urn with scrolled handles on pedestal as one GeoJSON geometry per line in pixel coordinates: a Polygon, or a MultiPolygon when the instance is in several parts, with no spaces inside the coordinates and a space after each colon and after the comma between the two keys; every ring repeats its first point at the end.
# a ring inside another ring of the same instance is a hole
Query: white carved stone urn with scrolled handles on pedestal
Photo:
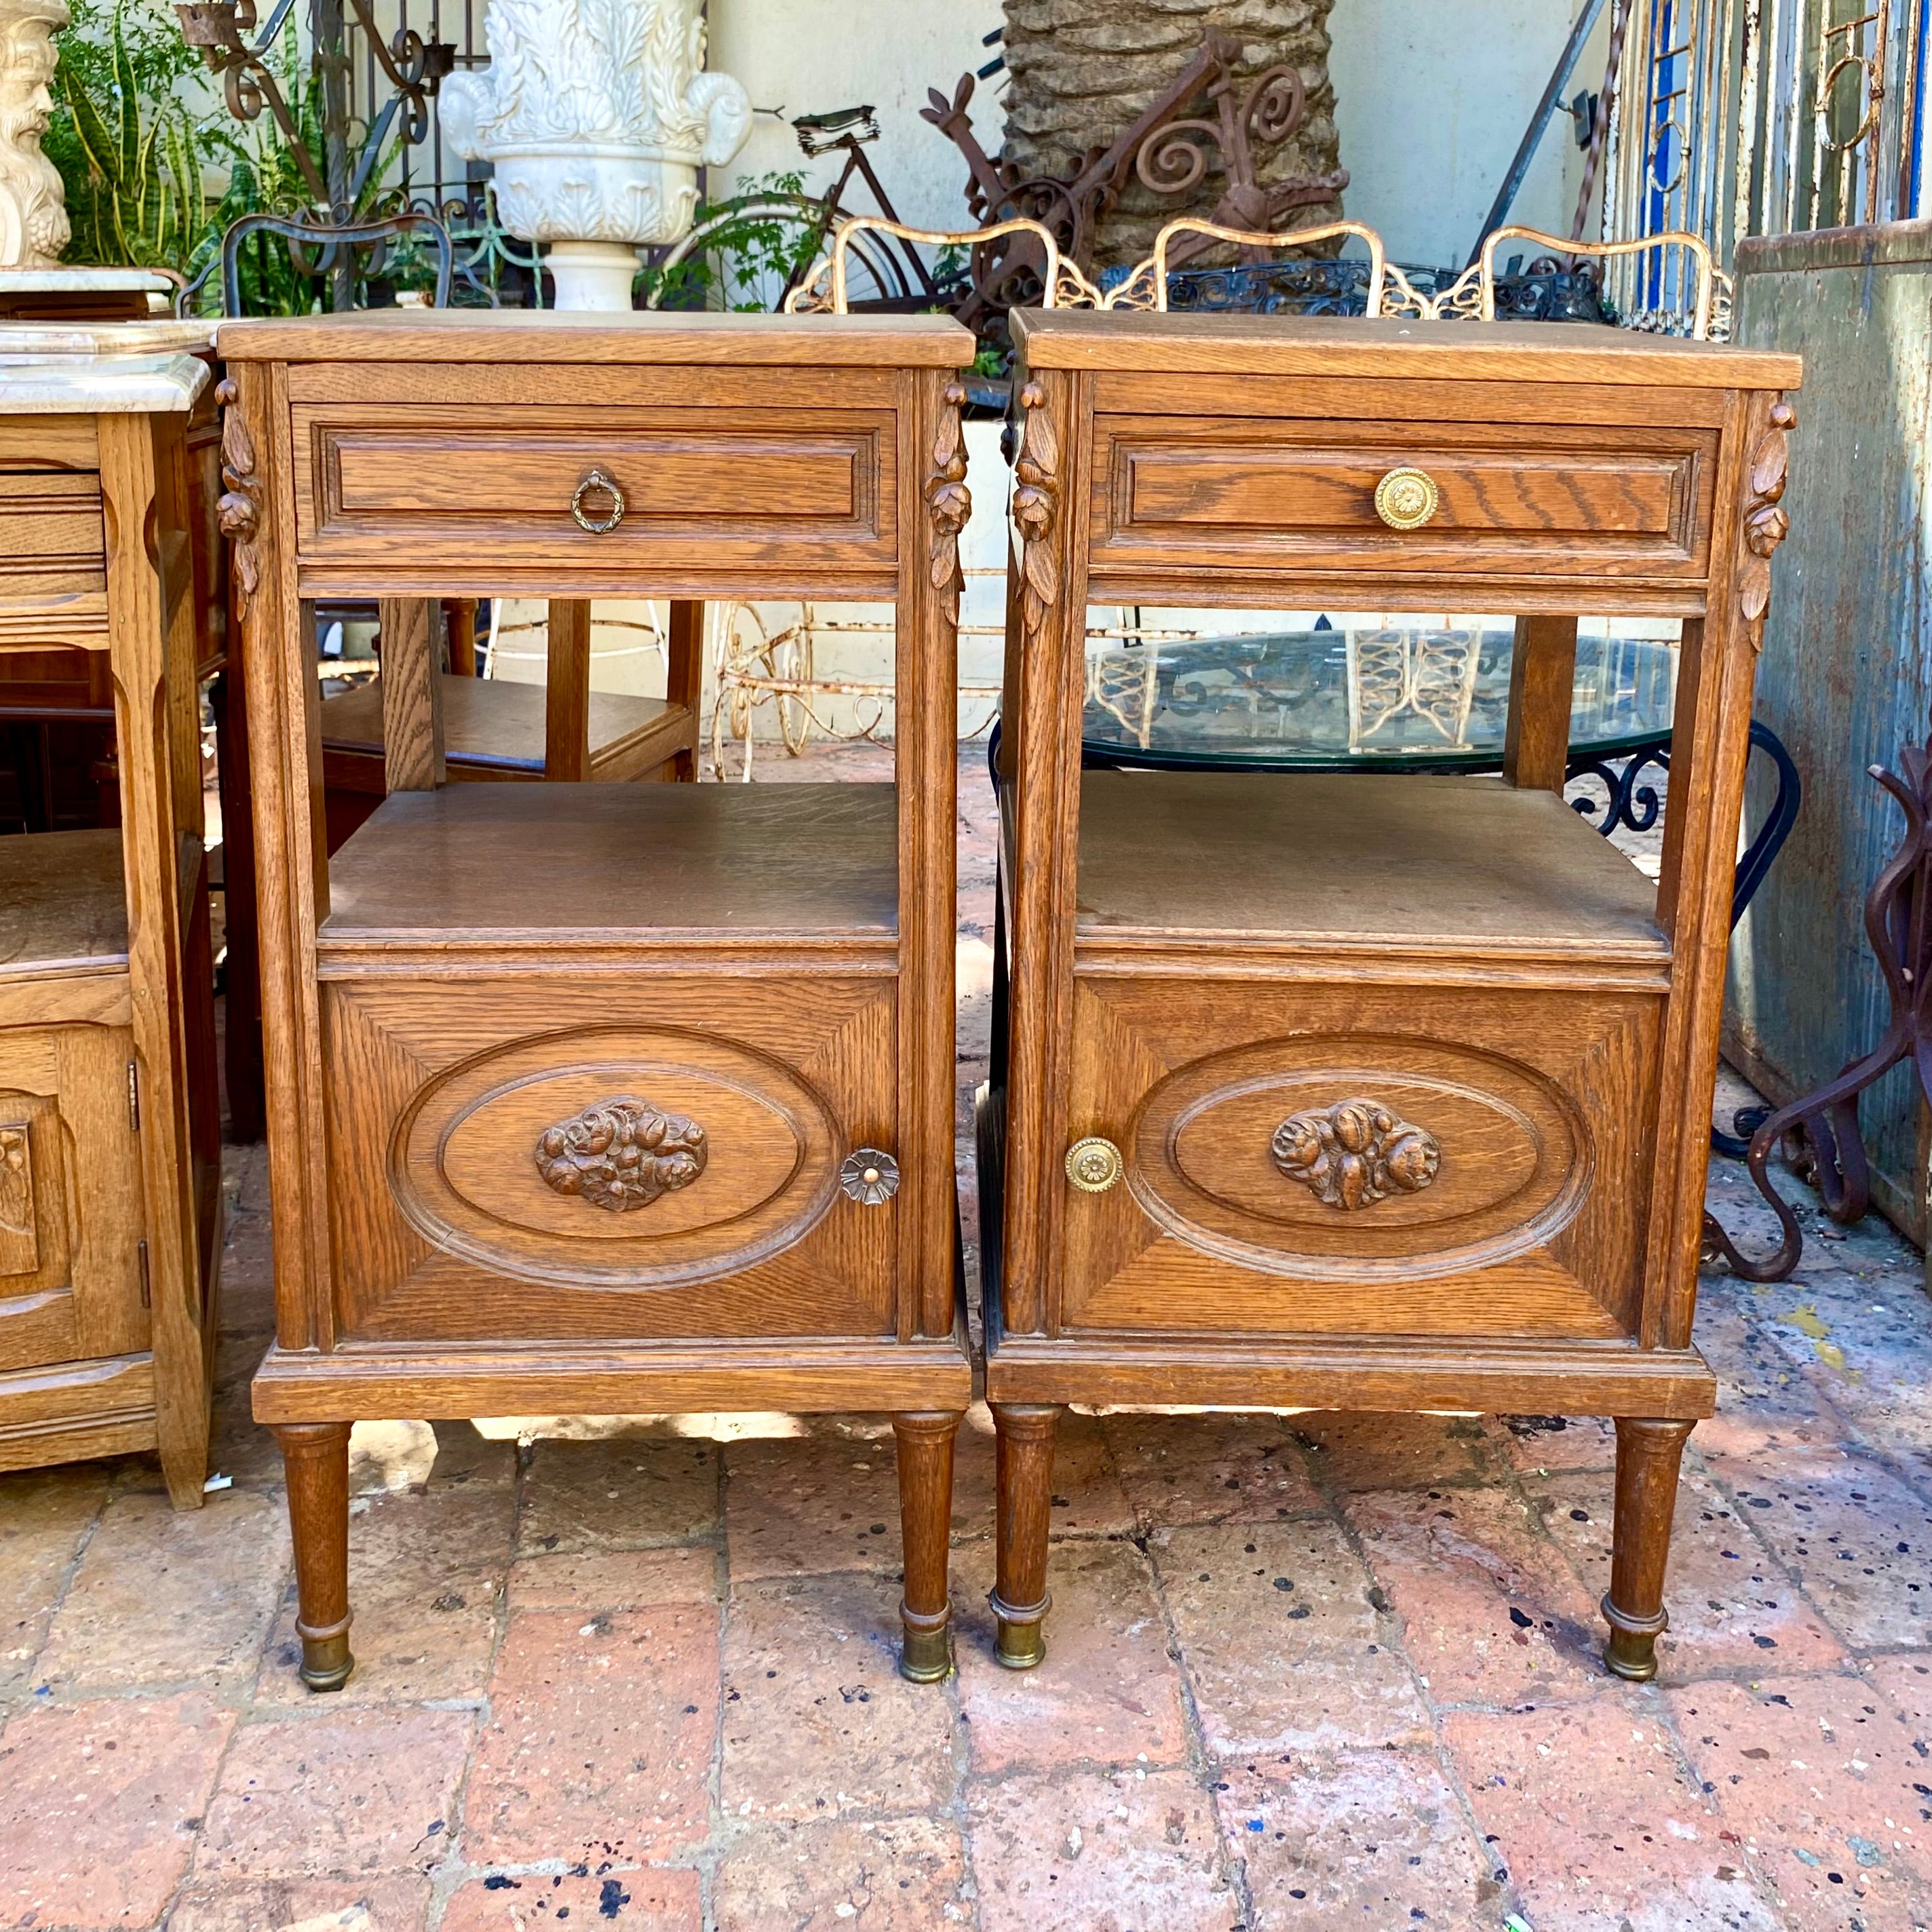
{"type": "Polygon", "coordinates": [[[699,164],[752,131],[746,91],[703,71],[701,0],[491,0],[483,29],[491,64],[442,83],[442,131],[495,164],[504,228],[551,243],[560,309],[628,309],[638,249],[690,230],[699,164]]]}

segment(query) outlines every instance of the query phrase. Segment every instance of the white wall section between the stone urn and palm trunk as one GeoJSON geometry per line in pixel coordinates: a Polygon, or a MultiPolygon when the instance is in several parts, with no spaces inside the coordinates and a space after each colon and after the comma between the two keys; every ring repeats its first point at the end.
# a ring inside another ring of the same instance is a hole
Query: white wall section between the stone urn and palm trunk
{"type": "MultiPolygon", "coordinates": [[[[844,155],[806,160],[786,126],[796,114],[823,114],[871,102],[879,139],[866,158],[879,172],[900,220],[916,228],[964,228],[966,162],[931,122],[920,120],[925,89],[947,99],[952,83],[993,58],[980,37],[1003,21],[999,0],[711,0],[709,66],[744,81],[759,114],[752,137],[728,168],[713,170],[711,193],[734,193],[738,180],[798,170],[806,185],[829,184],[844,155]]],[[[989,155],[1005,122],[995,89],[1005,73],[978,83],[974,126],[989,155]]],[[[850,207],[869,213],[864,182],[850,207]]]]}

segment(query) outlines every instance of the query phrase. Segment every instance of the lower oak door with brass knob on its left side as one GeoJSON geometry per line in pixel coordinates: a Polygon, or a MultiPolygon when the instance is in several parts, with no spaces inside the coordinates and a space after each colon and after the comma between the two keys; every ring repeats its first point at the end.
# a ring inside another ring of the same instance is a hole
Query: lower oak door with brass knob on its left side
{"type": "Polygon", "coordinates": [[[1086,980],[1074,1327],[1615,1337],[1640,1306],[1652,995],[1086,980]],[[1437,1016],[1439,1014],[1439,1016],[1437,1016]]]}

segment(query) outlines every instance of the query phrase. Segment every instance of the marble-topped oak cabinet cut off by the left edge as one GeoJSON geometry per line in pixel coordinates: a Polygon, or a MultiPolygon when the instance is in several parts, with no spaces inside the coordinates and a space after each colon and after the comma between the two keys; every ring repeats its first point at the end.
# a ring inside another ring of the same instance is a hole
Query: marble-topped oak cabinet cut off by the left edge
{"type": "Polygon", "coordinates": [[[104,667],[120,788],[118,831],[0,838],[0,1468],[158,1449],[195,1509],[222,1252],[209,371],[180,325],[0,336],[0,653],[104,667]]]}

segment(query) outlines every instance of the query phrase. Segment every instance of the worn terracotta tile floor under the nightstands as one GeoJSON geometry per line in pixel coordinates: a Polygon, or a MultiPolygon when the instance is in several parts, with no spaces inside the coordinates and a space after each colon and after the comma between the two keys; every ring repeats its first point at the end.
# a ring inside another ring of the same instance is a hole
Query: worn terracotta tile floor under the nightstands
{"type": "MultiPolygon", "coordinates": [[[[0,1924],[1932,1926],[1932,1308],[1878,1221],[1704,1283],[1723,1414],[1654,1687],[1594,1662],[1609,1437],[1522,1416],[1068,1418],[1051,1650],[1007,1675],[978,1412],[951,1685],[893,1667],[877,1420],[551,1416],[357,1430],[359,1667],[313,1698],[247,1420],[259,1148],[228,1194],[232,1488],[176,1517],[145,1459],[0,1478],[0,1924]]],[[[1741,1169],[1712,1200],[1768,1229],[1741,1169]]]]}

